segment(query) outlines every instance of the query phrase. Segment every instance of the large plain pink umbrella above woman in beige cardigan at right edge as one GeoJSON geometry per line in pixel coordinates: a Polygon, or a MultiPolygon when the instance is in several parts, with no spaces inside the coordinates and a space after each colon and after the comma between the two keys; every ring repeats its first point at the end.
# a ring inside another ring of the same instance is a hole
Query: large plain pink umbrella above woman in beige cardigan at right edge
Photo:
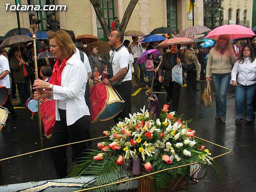
{"type": "Polygon", "coordinates": [[[205,38],[217,39],[220,35],[230,35],[230,39],[252,37],[255,33],[241,25],[222,25],[210,31],[205,38]]]}

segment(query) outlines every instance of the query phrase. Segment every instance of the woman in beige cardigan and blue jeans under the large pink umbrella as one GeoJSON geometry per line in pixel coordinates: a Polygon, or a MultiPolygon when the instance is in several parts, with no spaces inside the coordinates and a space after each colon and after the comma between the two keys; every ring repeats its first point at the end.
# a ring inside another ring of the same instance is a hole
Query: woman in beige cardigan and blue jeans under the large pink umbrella
{"type": "Polygon", "coordinates": [[[216,46],[210,50],[207,66],[206,81],[210,82],[210,71],[216,92],[215,120],[226,120],[227,98],[226,93],[231,78],[232,64],[237,60],[236,54],[230,49],[230,36],[220,35],[216,46]]]}

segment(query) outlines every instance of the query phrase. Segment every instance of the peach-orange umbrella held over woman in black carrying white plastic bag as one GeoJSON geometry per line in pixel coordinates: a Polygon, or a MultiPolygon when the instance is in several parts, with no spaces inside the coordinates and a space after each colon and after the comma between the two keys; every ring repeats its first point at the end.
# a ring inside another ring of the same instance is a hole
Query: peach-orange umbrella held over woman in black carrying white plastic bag
{"type": "Polygon", "coordinates": [[[166,47],[169,47],[170,45],[176,45],[176,44],[180,44],[181,46],[186,46],[186,45],[196,44],[196,41],[186,37],[174,37],[171,39],[164,40],[162,43],[158,44],[156,48],[166,48],[166,47]]]}

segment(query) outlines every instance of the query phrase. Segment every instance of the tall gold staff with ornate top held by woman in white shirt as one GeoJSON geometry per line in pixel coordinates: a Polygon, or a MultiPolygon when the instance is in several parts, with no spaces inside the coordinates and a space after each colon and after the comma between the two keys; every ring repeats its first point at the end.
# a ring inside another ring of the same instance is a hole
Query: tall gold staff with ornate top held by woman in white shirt
{"type": "MultiPolygon", "coordinates": [[[[32,24],[32,25],[29,26],[29,28],[30,28],[30,33],[32,34],[32,37],[33,37],[35,75],[36,75],[36,79],[38,79],[38,68],[37,68],[37,60],[36,60],[36,32],[38,30],[38,27],[37,27],[37,25],[32,24]],[[33,31],[33,28],[34,28],[34,31],[33,31]]],[[[44,146],[43,146],[43,140],[42,140],[42,124],[41,124],[40,101],[39,100],[37,100],[37,106],[38,106],[37,115],[38,115],[38,124],[39,124],[40,143],[41,143],[41,149],[43,149],[44,146]]],[[[46,180],[45,166],[44,166],[44,152],[42,151],[41,153],[42,153],[42,164],[43,164],[44,180],[46,180]]]]}

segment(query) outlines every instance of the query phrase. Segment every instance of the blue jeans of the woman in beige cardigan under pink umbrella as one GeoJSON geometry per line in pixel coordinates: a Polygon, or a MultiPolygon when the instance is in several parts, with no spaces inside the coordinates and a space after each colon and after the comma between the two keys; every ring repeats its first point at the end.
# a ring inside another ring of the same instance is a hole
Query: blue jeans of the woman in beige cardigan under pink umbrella
{"type": "Polygon", "coordinates": [[[216,116],[226,118],[227,90],[231,73],[212,73],[213,86],[216,92],[216,116]]]}

